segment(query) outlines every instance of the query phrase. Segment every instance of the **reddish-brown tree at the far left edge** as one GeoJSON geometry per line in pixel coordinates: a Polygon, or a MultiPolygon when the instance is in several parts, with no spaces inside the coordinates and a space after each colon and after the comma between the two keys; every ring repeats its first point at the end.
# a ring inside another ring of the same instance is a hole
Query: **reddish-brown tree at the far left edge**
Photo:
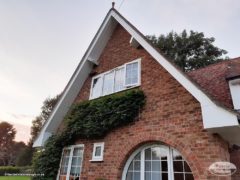
{"type": "Polygon", "coordinates": [[[0,164],[10,165],[16,130],[8,122],[0,123],[0,164]]]}

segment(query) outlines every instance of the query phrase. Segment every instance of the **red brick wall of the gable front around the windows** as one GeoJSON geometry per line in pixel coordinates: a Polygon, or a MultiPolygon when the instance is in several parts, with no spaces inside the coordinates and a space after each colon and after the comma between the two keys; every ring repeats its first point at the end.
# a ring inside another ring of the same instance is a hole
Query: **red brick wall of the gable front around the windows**
{"type": "MultiPolygon", "coordinates": [[[[220,137],[203,130],[200,104],[144,49],[130,47],[130,35],[118,26],[100,57],[94,71],[101,73],[141,58],[141,89],[147,103],[133,124],[110,132],[101,140],[78,140],[85,145],[81,180],[121,179],[124,165],[140,145],[163,142],[182,153],[195,179],[218,179],[208,167],[215,161],[229,160],[228,146],[220,137]],[[93,143],[105,142],[104,162],[90,162],[93,143]]],[[[91,78],[76,101],[89,98],[91,78]]],[[[223,178],[229,179],[229,178],[223,178]]]]}

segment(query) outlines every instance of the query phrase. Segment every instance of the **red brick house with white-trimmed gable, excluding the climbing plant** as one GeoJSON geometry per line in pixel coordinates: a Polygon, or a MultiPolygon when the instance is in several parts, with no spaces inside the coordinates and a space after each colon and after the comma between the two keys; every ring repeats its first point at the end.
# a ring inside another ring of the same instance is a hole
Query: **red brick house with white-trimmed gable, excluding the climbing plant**
{"type": "Polygon", "coordinates": [[[61,129],[74,102],[131,88],[147,97],[138,121],[64,148],[58,179],[220,179],[208,171],[212,163],[238,167],[240,58],[185,74],[113,8],[34,146],[61,129]]]}

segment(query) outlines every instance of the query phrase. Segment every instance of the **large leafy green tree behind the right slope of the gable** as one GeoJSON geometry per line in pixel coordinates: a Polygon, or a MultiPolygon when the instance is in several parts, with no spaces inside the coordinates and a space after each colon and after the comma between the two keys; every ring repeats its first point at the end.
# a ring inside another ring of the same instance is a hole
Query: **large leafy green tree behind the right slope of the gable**
{"type": "Polygon", "coordinates": [[[162,53],[178,65],[183,71],[195,70],[228,59],[223,57],[227,51],[213,45],[215,39],[207,38],[202,32],[186,30],[177,34],[170,32],[166,36],[147,36],[162,53]]]}

